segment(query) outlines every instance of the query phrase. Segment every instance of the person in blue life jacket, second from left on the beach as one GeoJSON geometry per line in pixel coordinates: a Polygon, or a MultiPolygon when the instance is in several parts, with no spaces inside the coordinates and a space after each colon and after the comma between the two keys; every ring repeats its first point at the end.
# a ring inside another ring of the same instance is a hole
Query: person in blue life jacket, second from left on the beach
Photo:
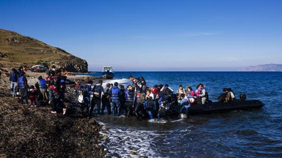
{"type": "Polygon", "coordinates": [[[27,102],[28,85],[27,85],[25,72],[21,73],[21,76],[18,79],[18,83],[19,83],[19,88],[20,88],[20,92],[21,92],[21,104],[24,104],[24,99],[25,99],[26,105],[27,105],[28,104],[28,102],[27,102]]]}

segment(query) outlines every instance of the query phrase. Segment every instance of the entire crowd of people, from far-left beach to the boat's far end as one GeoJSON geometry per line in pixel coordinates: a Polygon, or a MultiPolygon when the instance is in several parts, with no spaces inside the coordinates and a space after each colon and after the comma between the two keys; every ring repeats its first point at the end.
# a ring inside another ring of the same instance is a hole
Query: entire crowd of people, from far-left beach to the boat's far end
{"type": "MultiPolygon", "coordinates": [[[[21,104],[36,107],[40,105],[51,105],[51,113],[66,113],[65,92],[67,84],[77,84],[70,81],[66,76],[61,75],[53,65],[47,71],[45,78],[38,77],[35,85],[28,85],[23,67],[18,70],[12,69],[10,73],[12,96],[20,92],[21,104]]],[[[99,80],[97,85],[93,85],[92,80],[86,84],[76,85],[78,101],[81,113],[89,118],[93,117],[94,107],[97,106],[97,114],[104,114],[107,109],[108,114],[113,116],[134,115],[138,119],[166,117],[173,113],[173,106],[180,106],[180,113],[188,117],[191,104],[203,105],[212,102],[208,98],[208,92],[203,84],[199,84],[196,90],[191,86],[182,85],[174,93],[168,84],[164,86],[154,85],[148,87],[143,77],[134,78],[129,76],[132,84],[126,88],[124,85],[107,83],[103,88],[103,80],[99,80]]],[[[230,102],[235,100],[235,95],[230,88],[224,88],[223,93],[218,97],[219,102],[230,102]]]]}

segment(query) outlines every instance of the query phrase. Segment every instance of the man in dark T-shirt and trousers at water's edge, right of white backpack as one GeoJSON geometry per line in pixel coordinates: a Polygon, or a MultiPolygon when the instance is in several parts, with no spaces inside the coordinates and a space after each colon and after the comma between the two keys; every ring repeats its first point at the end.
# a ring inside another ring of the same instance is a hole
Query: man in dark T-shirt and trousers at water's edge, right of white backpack
{"type": "Polygon", "coordinates": [[[100,109],[101,109],[101,97],[104,94],[104,89],[102,87],[103,81],[99,80],[98,85],[95,85],[92,89],[94,96],[91,100],[91,109],[90,109],[90,114],[89,117],[92,117],[93,109],[95,105],[97,105],[97,114],[101,114],[100,109]]]}

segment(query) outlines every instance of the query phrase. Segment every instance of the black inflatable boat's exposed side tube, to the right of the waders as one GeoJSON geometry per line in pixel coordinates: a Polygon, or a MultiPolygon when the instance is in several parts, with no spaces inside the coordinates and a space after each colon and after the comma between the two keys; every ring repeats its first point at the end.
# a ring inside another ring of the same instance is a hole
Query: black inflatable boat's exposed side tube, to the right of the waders
{"type": "MultiPolygon", "coordinates": [[[[222,113],[236,110],[261,109],[265,104],[259,100],[235,100],[233,102],[212,102],[203,105],[191,105],[189,114],[222,113]]],[[[173,111],[180,113],[181,106],[174,106],[173,111]]]]}

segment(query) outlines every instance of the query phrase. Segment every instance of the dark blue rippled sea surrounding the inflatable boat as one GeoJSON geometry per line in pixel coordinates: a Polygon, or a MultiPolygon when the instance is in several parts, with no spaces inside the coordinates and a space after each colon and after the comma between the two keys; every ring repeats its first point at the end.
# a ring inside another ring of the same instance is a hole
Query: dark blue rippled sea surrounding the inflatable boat
{"type": "MultiPolygon", "coordinates": [[[[101,76],[101,73],[92,73],[101,76]]],[[[148,86],[199,83],[216,101],[222,88],[236,97],[265,103],[260,110],[190,116],[189,119],[137,121],[134,117],[97,117],[104,124],[104,141],[113,157],[282,157],[281,72],[116,72],[114,80],[127,86],[128,75],[143,76],[148,86]],[[129,155],[135,150],[136,156],[129,155]]]]}

